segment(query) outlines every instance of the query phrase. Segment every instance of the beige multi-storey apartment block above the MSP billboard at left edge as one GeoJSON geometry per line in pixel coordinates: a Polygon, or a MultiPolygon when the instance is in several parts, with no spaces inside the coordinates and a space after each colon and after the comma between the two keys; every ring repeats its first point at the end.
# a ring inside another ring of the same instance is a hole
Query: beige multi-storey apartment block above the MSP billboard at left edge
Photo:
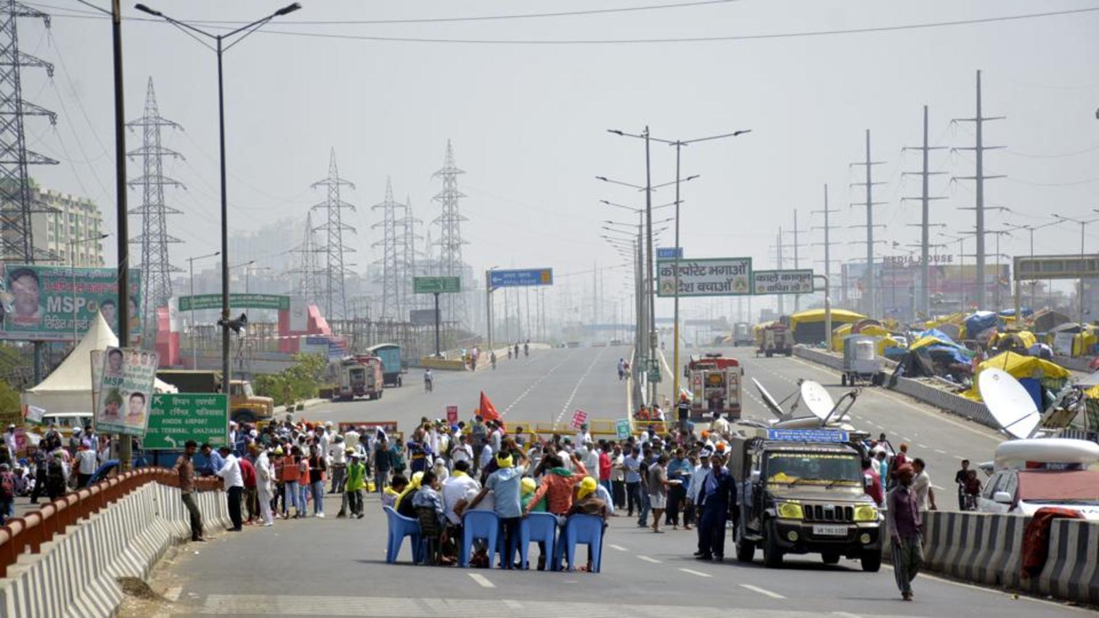
{"type": "Polygon", "coordinates": [[[34,246],[57,256],[59,266],[103,266],[103,214],[96,202],[32,184],[31,196],[49,207],[52,212],[31,216],[34,246]],[[97,239],[88,242],[86,239],[97,239]]]}

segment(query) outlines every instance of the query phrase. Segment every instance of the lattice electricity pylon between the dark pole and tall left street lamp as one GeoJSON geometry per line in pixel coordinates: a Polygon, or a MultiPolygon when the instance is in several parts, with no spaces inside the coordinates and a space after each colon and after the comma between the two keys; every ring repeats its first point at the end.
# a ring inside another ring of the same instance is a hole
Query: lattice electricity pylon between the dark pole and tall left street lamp
{"type": "Polygon", "coordinates": [[[182,187],[178,180],[164,175],[164,157],[182,158],[182,155],[160,145],[162,128],[180,126],[160,115],[152,77],[145,90],[145,115],[127,122],[126,126],[132,131],[138,128],[142,131],[141,147],[126,153],[131,158],[142,157],[142,175],[126,184],[142,190],[141,206],[130,211],[130,214],[141,216],[141,234],[130,242],[141,245],[141,280],[145,286],[141,314],[145,322],[145,340],[152,343],[155,341],[156,308],[167,307],[171,298],[170,273],[182,272],[168,261],[168,245],[182,241],[168,235],[167,217],[180,214],[180,211],[164,203],[165,187],[182,187]]]}

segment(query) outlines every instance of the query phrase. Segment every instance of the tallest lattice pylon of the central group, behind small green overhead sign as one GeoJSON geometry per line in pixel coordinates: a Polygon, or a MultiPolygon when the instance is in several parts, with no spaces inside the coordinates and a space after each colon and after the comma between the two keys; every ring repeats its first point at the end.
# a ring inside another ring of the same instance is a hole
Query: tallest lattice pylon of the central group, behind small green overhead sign
{"type": "MultiPolygon", "coordinates": [[[[451,141],[447,140],[443,167],[433,175],[443,179],[443,190],[432,198],[443,208],[443,211],[432,223],[439,225],[439,240],[435,241],[435,244],[439,245],[440,275],[444,277],[462,275],[462,245],[467,244],[462,240],[462,222],[467,221],[467,219],[458,212],[458,199],[466,196],[458,190],[458,174],[465,174],[465,172],[455,166],[454,148],[451,141]]],[[[471,282],[465,283],[465,285],[470,284],[471,282]]],[[[440,311],[446,317],[446,321],[463,325],[469,323],[466,319],[464,294],[445,294],[442,301],[440,311]]]]}

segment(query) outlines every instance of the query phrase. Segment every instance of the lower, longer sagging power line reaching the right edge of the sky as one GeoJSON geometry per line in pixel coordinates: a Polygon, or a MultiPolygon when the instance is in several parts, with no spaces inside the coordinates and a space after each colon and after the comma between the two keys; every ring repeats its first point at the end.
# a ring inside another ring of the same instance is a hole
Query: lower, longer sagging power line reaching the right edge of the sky
{"type": "MultiPolygon", "coordinates": [[[[1099,7],[1091,7],[1085,9],[1069,9],[1065,11],[1045,11],[1041,13],[1022,13],[1017,15],[998,15],[991,18],[975,18],[968,20],[952,20],[952,21],[909,23],[909,24],[897,24],[897,25],[880,25],[880,26],[850,27],[850,29],[834,29],[834,30],[811,30],[811,31],[797,31],[797,32],[776,32],[766,34],[730,34],[730,35],[717,35],[717,36],[692,36],[692,37],[669,37],[669,38],[558,38],[558,40],[437,38],[437,37],[410,37],[410,36],[373,36],[373,35],[362,35],[362,34],[338,34],[338,33],[323,33],[323,32],[293,32],[293,31],[269,30],[269,29],[265,29],[258,32],[259,34],[279,34],[286,36],[311,36],[317,38],[336,38],[336,40],[348,40],[348,41],[374,41],[381,43],[455,43],[455,44],[482,44],[482,45],[612,45],[612,44],[646,44],[646,43],[720,43],[730,41],[763,41],[771,38],[800,38],[809,36],[836,36],[844,34],[868,34],[877,32],[925,30],[934,27],[951,27],[959,25],[975,25],[975,24],[997,23],[997,22],[1007,22],[1017,20],[1064,16],[1072,14],[1090,13],[1096,11],[1099,11],[1099,7]]],[[[73,18],[73,19],[96,19],[96,20],[109,19],[99,16],[91,12],[86,12],[84,14],[76,14],[76,13],[57,14],[55,16],[73,18]]],[[[152,20],[145,18],[125,18],[125,20],[160,23],[159,20],[152,20]]],[[[197,22],[197,23],[209,23],[209,22],[197,22]]],[[[232,30],[232,26],[229,25],[224,26],[211,25],[210,27],[220,30],[232,30]]]]}

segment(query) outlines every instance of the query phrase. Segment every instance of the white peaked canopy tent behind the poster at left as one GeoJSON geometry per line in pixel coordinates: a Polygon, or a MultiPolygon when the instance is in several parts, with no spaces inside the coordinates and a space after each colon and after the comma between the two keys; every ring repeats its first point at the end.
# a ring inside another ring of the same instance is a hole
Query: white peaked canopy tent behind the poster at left
{"type": "MultiPolygon", "coordinates": [[[[46,376],[34,388],[23,393],[23,404],[37,406],[46,412],[90,412],[91,411],[91,352],[107,350],[119,344],[119,338],[103,316],[96,313],[91,328],[54,373],[46,376]]],[[[156,380],[157,393],[176,393],[170,384],[156,380]]]]}

